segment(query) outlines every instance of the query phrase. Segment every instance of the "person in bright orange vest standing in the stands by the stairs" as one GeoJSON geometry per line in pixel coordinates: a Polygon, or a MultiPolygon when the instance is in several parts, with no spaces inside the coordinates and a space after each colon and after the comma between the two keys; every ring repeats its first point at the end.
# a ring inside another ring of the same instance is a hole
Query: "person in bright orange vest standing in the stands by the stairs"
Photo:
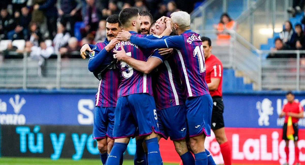
{"type": "Polygon", "coordinates": [[[218,25],[213,25],[213,27],[217,30],[217,39],[228,40],[231,39],[229,31],[235,29],[236,23],[231,19],[228,13],[223,13],[218,25]]]}

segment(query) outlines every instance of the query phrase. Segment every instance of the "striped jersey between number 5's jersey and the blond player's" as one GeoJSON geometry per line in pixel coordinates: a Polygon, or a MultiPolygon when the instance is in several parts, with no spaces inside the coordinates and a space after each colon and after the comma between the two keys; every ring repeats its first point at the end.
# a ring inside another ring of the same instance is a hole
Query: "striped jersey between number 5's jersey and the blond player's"
{"type": "MultiPolygon", "coordinates": [[[[177,52],[174,52],[177,53],[177,52]]],[[[156,71],[152,73],[153,91],[158,110],[184,105],[183,89],[178,75],[178,68],[173,56],[152,55],[162,60],[156,71]]]]}

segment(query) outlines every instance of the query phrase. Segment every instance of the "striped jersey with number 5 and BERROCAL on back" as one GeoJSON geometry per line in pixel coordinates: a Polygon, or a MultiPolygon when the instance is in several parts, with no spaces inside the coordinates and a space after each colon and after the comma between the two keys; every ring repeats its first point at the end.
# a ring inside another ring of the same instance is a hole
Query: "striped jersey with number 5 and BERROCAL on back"
{"type": "MultiPolygon", "coordinates": [[[[147,36],[138,34],[135,31],[130,31],[130,33],[131,35],[138,37],[147,36]]],[[[130,41],[118,43],[113,50],[121,50],[121,44],[123,45],[127,56],[130,56],[136,60],[147,61],[147,59],[153,53],[152,49],[143,49],[142,47],[138,47],[138,45],[135,45],[130,41]]],[[[117,67],[120,70],[120,85],[117,97],[138,93],[147,93],[153,96],[152,78],[150,74],[144,74],[140,71],[137,71],[124,61],[118,61],[117,67]]]]}

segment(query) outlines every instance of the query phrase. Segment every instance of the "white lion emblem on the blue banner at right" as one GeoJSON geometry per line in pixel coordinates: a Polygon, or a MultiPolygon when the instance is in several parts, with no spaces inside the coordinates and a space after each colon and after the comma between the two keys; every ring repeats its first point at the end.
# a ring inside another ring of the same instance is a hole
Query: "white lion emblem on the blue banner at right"
{"type": "Polygon", "coordinates": [[[269,126],[269,115],[273,115],[272,101],[265,98],[262,102],[258,101],[256,103],[256,109],[260,118],[258,119],[258,125],[269,126]]]}

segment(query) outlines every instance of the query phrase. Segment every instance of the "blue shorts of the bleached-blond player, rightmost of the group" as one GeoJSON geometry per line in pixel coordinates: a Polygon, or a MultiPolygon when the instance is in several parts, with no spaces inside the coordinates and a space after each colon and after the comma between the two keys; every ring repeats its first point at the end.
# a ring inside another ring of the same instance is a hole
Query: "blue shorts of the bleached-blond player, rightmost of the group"
{"type": "Polygon", "coordinates": [[[211,118],[213,100],[210,94],[188,97],[185,101],[187,108],[188,133],[190,137],[205,134],[211,136],[211,118]]]}

